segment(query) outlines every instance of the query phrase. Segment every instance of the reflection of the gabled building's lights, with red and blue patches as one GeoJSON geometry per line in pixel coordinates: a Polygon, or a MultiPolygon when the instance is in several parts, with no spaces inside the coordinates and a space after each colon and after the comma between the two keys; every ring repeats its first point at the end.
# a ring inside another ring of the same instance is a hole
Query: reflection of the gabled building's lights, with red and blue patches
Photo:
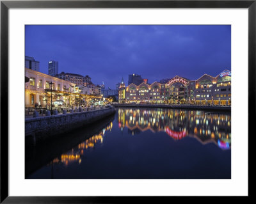
{"type": "Polygon", "coordinates": [[[231,115],[177,109],[118,109],[118,127],[131,134],[145,130],[165,132],[173,139],[195,137],[200,143],[213,142],[231,148],[231,115]]]}

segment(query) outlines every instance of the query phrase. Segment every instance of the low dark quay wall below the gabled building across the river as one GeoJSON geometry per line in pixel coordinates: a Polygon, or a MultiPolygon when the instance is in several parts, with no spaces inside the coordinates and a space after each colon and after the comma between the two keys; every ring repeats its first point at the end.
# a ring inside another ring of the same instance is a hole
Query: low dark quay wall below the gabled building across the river
{"type": "Polygon", "coordinates": [[[208,110],[208,111],[225,111],[230,112],[231,106],[203,106],[189,104],[112,104],[114,107],[160,107],[171,109],[189,109],[189,110],[208,110]]]}

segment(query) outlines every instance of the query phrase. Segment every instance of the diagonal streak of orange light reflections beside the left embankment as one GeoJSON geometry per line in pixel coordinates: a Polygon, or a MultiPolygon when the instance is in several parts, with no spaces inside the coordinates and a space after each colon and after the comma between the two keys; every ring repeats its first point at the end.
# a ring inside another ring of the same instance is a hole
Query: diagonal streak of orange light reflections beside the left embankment
{"type": "Polygon", "coordinates": [[[94,148],[97,143],[103,143],[104,134],[106,134],[108,131],[111,131],[112,127],[113,123],[111,122],[106,128],[102,129],[99,134],[95,134],[89,139],[86,139],[86,141],[77,145],[76,148],[73,148],[69,152],[55,158],[49,164],[58,163],[65,164],[65,166],[68,166],[68,164],[71,164],[72,162],[78,162],[80,164],[82,161],[81,155],[86,153],[88,148],[94,148]]]}

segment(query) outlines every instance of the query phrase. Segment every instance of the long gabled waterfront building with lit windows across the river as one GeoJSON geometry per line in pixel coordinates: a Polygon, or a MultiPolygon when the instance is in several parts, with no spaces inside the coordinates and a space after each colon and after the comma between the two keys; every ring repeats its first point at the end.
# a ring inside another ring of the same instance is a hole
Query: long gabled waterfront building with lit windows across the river
{"type": "Polygon", "coordinates": [[[164,103],[197,105],[231,105],[231,72],[224,70],[216,77],[204,74],[190,81],[175,76],[166,83],[129,84],[121,82],[120,103],[164,103]]]}

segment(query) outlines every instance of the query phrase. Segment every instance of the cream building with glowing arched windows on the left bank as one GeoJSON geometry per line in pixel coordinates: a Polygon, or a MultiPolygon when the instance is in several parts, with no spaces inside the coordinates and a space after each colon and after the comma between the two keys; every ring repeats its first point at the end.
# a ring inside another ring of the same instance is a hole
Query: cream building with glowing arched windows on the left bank
{"type": "Polygon", "coordinates": [[[25,68],[25,76],[29,78],[29,81],[25,83],[25,107],[35,107],[36,103],[41,107],[51,106],[49,105],[51,87],[54,100],[62,100],[69,106],[74,103],[72,93],[74,93],[76,84],[29,68],[25,68]]]}

